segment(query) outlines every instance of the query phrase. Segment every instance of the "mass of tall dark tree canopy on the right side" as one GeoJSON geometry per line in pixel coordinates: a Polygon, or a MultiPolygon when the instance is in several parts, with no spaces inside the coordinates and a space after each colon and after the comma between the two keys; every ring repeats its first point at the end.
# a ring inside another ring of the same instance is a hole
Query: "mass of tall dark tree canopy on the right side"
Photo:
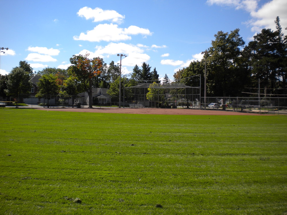
{"type": "Polygon", "coordinates": [[[219,31],[203,59],[177,71],[174,79],[198,86],[195,83],[198,78],[193,76],[204,77],[206,58],[208,96],[241,96],[246,88],[257,88],[258,81],[270,95],[286,94],[287,37],[282,33],[279,17],[275,24],[276,31],[262,29],[247,46],[244,46],[239,29],[230,33],[219,31]]]}

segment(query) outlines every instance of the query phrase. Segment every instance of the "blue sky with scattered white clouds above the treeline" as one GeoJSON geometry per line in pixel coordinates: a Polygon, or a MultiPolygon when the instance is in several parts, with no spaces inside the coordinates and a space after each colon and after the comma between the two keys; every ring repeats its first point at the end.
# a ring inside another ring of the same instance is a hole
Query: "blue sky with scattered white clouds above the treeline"
{"type": "MultiPolygon", "coordinates": [[[[122,73],[147,62],[170,79],[200,60],[218,31],[240,29],[248,44],[262,28],[287,27],[286,0],[1,0],[0,73],[26,60],[34,71],[67,69],[74,54],[89,53],[122,73]]],[[[286,34],[286,30],[284,30],[286,34]]]]}

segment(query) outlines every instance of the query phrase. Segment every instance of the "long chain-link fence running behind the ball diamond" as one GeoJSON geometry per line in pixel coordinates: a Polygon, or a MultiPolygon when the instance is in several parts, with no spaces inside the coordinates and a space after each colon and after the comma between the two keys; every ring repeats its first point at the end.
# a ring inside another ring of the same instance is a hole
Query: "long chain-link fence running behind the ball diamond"
{"type": "MultiPolygon", "coordinates": [[[[143,97],[144,95],[142,95],[143,97]]],[[[36,98],[31,95],[21,95],[23,103],[37,104],[44,107],[84,107],[89,105],[88,96],[69,95],[46,95],[36,98]],[[25,98],[26,97],[26,98],[25,98]]],[[[154,100],[133,100],[121,97],[121,107],[156,107],[156,108],[190,108],[190,109],[214,109],[211,103],[217,103],[216,110],[257,113],[282,113],[287,114],[287,97],[199,97],[198,94],[177,94],[167,97],[166,94],[156,95],[154,100]],[[162,99],[158,99],[159,97],[162,99]],[[206,100],[206,103],[204,103],[206,100]]],[[[7,100],[8,101],[8,100],[7,100]]],[[[10,98],[13,101],[13,98],[10,98]]],[[[119,97],[109,96],[105,99],[93,97],[93,105],[100,107],[119,107],[119,97]]]]}

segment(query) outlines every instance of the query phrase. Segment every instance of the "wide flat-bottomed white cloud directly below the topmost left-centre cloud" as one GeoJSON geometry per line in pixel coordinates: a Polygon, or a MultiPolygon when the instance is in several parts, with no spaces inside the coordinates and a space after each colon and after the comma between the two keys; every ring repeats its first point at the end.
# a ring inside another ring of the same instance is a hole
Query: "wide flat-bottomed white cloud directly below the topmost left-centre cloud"
{"type": "Polygon", "coordinates": [[[99,24],[93,30],[87,33],[81,33],[80,36],[74,36],[74,40],[86,40],[90,42],[100,41],[120,41],[131,40],[129,34],[143,34],[151,35],[148,29],[139,28],[137,26],[130,26],[129,28],[119,28],[116,24],[99,24]]]}

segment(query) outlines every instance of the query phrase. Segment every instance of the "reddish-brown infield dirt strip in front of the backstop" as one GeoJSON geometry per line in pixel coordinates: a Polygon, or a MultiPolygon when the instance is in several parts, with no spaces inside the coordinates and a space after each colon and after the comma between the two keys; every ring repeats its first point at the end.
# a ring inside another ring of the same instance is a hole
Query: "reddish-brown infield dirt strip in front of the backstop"
{"type": "Polygon", "coordinates": [[[164,108],[38,108],[46,111],[67,111],[86,113],[114,113],[114,114],[162,114],[162,115],[259,115],[222,110],[194,110],[194,109],[164,109],[164,108]]]}

